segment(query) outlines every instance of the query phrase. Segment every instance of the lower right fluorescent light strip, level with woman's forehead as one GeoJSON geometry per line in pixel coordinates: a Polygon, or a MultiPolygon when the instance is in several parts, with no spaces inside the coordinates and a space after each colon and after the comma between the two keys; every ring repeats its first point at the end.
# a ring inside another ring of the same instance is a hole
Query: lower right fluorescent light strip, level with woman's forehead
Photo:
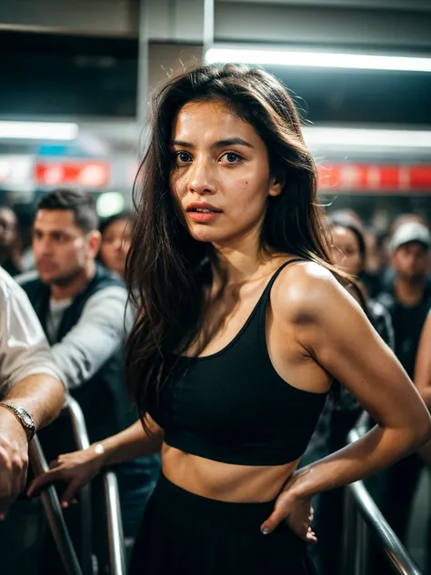
{"type": "Polygon", "coordinates": [[[427,147],[431,132],[347,127],[303,127],[307,146],[427,147]]]}

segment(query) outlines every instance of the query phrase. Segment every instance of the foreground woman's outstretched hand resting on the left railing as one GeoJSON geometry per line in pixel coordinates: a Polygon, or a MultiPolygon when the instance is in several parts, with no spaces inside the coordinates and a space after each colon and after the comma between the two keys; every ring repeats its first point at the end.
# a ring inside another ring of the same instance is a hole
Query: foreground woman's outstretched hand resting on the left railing
{"type": "Polygon", "coordinates": [[[91,481],[104,464],[103,453],[99,452],[96,447],[91,446],[82,451],[59,455],[49,464],[49,471],[42,473],[32,482],[28,495],[30,497],[37,495],[45,486],[56,481],[63,481],[67,485],[60,500],[62,508],[67,508],[69,503],[75,501],[76,491],[91,481]]]}

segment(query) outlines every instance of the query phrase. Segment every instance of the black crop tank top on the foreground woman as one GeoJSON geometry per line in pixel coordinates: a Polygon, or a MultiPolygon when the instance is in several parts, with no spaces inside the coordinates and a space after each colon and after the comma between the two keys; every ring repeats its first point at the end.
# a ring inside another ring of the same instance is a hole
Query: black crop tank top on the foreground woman
{"type": "Polygon", "coordinates": [[[276,270],[246,324],[226,348],[201,358],[180,358],[151,402],[149,414],[165,443],[187,453],[237,465],[283,465],[302,456],[326,393],[290,386],[266,348],[266,309],[276,270]]]}

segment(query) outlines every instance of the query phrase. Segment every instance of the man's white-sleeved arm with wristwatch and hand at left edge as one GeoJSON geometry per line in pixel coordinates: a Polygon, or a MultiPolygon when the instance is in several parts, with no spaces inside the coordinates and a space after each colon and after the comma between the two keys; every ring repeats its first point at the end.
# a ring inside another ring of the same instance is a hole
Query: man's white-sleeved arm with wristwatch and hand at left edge
{"type": "Polygon", "coordinates": [[[0,267],[0,520],[25,488],[28,441],[65,403],[45,334],[25,295],[0,267]]]}

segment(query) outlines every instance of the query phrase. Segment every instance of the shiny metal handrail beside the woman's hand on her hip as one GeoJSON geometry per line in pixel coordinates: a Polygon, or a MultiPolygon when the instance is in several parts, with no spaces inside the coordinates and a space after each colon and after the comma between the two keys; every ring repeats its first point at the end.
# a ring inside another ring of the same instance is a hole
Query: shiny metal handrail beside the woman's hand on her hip
{"type": "MultiPolygon", "coordinates": [[[[360,439],[366,428],[354,428],[348,434],[348,443],[360,439]]],[[[408,555],[406,548],[389,527],[374,499],[369,494],[363,481],[356,481],[346,486],[346,539],[345,539],[345,572],[349,575],[361,575],[366,571],[366,523],[396,573],[401,575],[422,575],[415,562],[408,555]],[[356,511],[356,512],[355,512],[356,511]],[[362,520],[360,518],[362,517],[362,520]],[[365,522],[365,523],[364,523],[365,522]]]]}

